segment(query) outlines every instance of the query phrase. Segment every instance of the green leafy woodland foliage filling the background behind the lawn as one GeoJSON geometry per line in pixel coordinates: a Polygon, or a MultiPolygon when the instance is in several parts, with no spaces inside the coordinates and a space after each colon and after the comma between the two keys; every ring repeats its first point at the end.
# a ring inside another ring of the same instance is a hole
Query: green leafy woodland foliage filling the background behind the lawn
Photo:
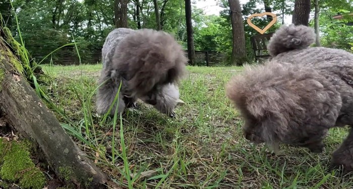
{"type": "MultiPolygon", "coordinates": [[[[119,24],[118,16],[114,15],[119,13],[115,5],[118,5],[120,1],[127,3],[125,27],[132,29],[157,29],[159,28],[156,18],[157,11],[159,13],[160,28],[163,31],[174,34],[184,49],[188,49],[186,4],[180,0],[156,0],[157,10],[154,9],[155,2],[152,0],[133,0],[130,2],[126,2],[126,0],[13,0],[13,5],[18,16],[22,38],[33,57],[40,60],[62,45],[78,42],[81,62],[85,63],[97,56],[95,51],[101,48],[106,35],[119,24]]],[[[8,2],[8,0],[0,1],[2,14],[9,10],[10,5],[8,2]]],[[[347,41],[350,40],[349,37],[353,27],[346,26],[349,22],[349,17],[345,16],[342,20],[336,20],[332,16],[338,13],[344,15],[353,12],[352,2],[352,0],[322,0],[319,2],[318,28],[320,36],[318,37],[321,39],[322,46],[350,50],[351,46],[347,41]]],[[[202,9],[195,7],[194,2],[191,2],[193,46],[195,50],[212,50],[226,53],[227,57],[231,59],[233,30],[231,14],[229,14],[229,2],[228,0],[217,0],[217,3],[223,8],[219,16],[206,15],[202,9]]],[[[249,0],[240,6],[242,15],[239,19],[243,23],[245,51],[250,62],[254,60],[250,37],[257,35],[258,32],[247,24],[247,17],[271,9],[271,12],[276,13],[279,19],[268,30],[268,32],[273,32],[281,23],[284,23],[283,17],[285,15],[293,14],[294,5],[295,0],[249,0]]],[[[311,11],[314,13],[314,6],[312,6],[311,11]]],[[[6,20],[4,19],[5,23],[7,20],[8,25],[10,21],[14,23],[14,15],[10,14],[10,17],[6,20]]],[[[314,20],[312,18],[309,19],[309,26],[315,27],[314,20]]],[[[263,28],[268,24],[269,20],[266,17],[253,18],[252,22],[263,28]]],[[[237,29],[240,28],[237,27],[237,29]]],[[[11,26],[11,31],[15,39],[20,40],[14,24],[11,26]]],[[[235,39],[238,40],[239,38],[237,37],[235,39]]],[[[242,43],[239,44],[242,45],[242,43]]],[[[244,48],[244,46],[241,48],[244,48]]],[[[43,63],[52,61],[55,64],[56,60],[68,55],[78,57],[74,46],[71,45],[56,50],[43,63]]]]}

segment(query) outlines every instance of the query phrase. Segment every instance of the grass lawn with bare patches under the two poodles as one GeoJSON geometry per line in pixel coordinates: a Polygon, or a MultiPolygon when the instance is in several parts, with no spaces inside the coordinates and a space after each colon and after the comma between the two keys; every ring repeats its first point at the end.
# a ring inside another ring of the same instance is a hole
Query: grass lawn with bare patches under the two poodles
{"type": "Polygon", "coordinates": [[[180,89],[186,104],[175,110],[177,118],[140,102],[138,110],[128,111],[116,125],[110,118],[102,121],[96,116],[92,94],[100,69],[101,65],[43,67],[55,78],[47,87],[50,97],[75,123],[68,125],[69,133],[123,187],[353,187],[351,178],[336,177],[327,170],[330,154],[346,129],[329,132],[323,154],[282,145],[283,152],[275,156],[266,146],[244,139],[239,113],[224,93],[229,78],[242,71],[239,67],[188,67],[180,89]]]}

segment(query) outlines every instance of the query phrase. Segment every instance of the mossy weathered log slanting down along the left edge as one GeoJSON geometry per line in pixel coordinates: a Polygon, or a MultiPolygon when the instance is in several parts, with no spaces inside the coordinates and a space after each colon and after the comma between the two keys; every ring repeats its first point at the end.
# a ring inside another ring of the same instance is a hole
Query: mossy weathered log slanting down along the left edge
{"type": "Polygon", "coordinates": [[[106,175],[65,133],[27,82],[21,71],[26,65],[21,56],[10,50],[8,45],[14,40],[5,31],[0,25],[0,108],[7,120],[22,136],[37,144],[58,176],[78,188],[106,188],[106,175]]]}

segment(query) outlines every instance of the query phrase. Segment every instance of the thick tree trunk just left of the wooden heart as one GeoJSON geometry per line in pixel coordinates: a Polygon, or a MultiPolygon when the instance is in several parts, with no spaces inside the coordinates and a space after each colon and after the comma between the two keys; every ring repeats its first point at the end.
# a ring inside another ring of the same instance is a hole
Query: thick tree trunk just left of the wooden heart
{"type": "Polygon", "coordinates": [[[247,59],[242,10],[239,0],[228,0],[228,3],[233,36],[231,64],[242,66],[247,59]]]}

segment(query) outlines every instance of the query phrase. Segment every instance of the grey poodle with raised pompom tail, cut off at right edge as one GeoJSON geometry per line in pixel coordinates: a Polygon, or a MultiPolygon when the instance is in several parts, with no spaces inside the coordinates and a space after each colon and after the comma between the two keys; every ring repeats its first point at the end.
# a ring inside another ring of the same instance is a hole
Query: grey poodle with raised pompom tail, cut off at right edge
{"type": "MultiPolygon", "coordinates": [[[[353,125],[353,54],[309,47],[314,41],[309,27],[281,26],[267,47],[272,59],[228,82],[246,139],[274,151],[281,142],[321,153],[330,128],[353,125]]],[[[332,154],[331,166],[338,165],[353,170],[352,131],[332,154]]]]}

